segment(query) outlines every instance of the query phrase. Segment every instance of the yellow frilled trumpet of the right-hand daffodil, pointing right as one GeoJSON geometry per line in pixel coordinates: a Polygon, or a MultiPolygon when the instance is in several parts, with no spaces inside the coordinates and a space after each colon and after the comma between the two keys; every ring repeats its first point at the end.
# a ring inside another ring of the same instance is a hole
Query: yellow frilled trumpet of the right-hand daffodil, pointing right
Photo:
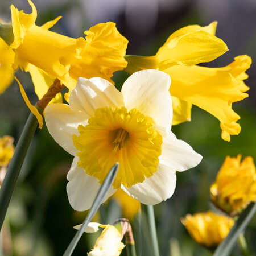
{"type": "Polygon", "coordinates": [[[199,66],[174,66],[164,70],[172,78],[172,96],[188,101],[214,115],[221,122],[222,138],[240,133],[240,119],[232,109],[232,102],[241,101],[248,96],[248,88],[241,80],[250,67],[250,57],[238,56],[223,68],[199,66]],[[186,74],[184,76],[184,74],[186,74]]]}

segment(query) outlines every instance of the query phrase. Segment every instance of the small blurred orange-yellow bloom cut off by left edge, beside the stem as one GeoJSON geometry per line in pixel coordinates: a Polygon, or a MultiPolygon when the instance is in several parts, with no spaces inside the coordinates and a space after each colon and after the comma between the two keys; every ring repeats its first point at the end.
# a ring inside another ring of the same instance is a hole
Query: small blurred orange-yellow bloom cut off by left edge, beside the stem
{"type": "Polygon", "coordinates": [[[0,137],[0,167],[7,166],[14,154],[14,139],[11,136],[0,137]]]}

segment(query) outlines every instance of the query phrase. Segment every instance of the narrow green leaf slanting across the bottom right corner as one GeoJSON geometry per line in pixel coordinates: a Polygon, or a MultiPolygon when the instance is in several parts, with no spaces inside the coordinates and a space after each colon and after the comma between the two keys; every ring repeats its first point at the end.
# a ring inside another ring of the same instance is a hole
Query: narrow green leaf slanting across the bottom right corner
{"type": "Polygon", "coordinates": [[[234,226],[230,230],[228,236],[222,241],[217,247],[213,256],[228,256],[233,250],[234,245],[237,242],[237,238],[245,230],[249,224],[251,218],[254,216],[256,211],[256,203],[250,203],[245,210],[241,213],[234,226]]]}

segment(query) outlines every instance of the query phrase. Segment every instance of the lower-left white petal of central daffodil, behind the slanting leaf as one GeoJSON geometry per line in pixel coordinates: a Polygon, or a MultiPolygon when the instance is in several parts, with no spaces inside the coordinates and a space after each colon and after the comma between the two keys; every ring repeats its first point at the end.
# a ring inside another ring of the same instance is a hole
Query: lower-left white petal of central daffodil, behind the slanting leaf
{"type": "MultiPolygon", "coordinates": [[[[101,187],[98,179],[86,174],[85,170],[77,166],[79,158],[75,156],[72,166],[68,172],[67,193],[68,200],[75,210],[88,210],[101,187]]],[[[113,186],[110,187],[104,198],[104,203],[113,193],[117,191],[113,186]]]]}

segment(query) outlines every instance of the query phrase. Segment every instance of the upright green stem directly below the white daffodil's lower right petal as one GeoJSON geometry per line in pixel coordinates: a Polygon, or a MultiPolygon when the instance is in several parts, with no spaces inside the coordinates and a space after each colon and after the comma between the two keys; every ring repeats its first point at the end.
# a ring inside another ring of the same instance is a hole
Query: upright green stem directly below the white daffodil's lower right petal
{"type": "Polygon", "coordinates": [[[147,216],[148,226],[150,228],[150,238],[152,242],[152,249],[154,256],[160,256],[159,247],[158,247],[158,237],[156,234],[156,226],[155,226],[155,214],[153,205],[143,205],[142,210],[147,216]]]}

